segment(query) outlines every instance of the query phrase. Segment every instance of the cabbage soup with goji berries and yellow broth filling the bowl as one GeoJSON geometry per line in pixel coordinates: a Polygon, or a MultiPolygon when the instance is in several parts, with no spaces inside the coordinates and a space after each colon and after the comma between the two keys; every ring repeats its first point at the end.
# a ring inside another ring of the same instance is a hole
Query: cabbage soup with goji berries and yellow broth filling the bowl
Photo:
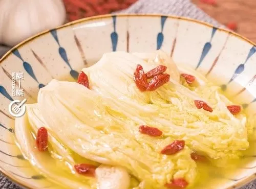
{"type": "Polygon", "coordinates": [[[243,166],[253,123],[164,52],[113,52],[82,69],[77,83],[41,88],[15,133],[56,187],[210,188],[243,166]]]}

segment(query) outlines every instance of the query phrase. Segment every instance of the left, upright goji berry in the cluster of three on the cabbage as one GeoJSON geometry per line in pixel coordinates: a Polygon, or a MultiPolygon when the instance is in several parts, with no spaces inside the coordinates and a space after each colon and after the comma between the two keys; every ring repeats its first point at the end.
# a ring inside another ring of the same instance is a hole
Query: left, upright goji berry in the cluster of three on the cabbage
{"type": "Polygon", "coordinates": [[[134,72],[134,81],[140,91],[145,91],[147,88],[147,78],[143,67],[138,64],[134,72]]]}

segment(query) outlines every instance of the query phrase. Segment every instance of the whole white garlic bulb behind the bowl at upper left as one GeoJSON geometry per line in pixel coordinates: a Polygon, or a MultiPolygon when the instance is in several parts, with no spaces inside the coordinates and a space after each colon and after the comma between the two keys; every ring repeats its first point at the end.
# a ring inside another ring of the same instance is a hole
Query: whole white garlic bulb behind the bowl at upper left
{"type": "Polygon", "coordinates": [[[62,25],[62,0],[0,0],[0,44],[14,46],[44,30],[62,25]]]}

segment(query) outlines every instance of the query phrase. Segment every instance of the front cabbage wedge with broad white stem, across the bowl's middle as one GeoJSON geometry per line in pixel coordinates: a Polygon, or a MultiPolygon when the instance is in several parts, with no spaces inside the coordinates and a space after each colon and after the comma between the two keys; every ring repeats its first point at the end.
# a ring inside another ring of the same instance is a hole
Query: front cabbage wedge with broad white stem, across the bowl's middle
{"type": "Polygon", "coordinates": [[[109,112],[112,102],[80,84],[57,80],[40,89],[38,95],[38,107],[47,125],[63,145],[80,156],[121,166],[145,188],[162,188],[175,178],[194,182],[196,163],[187,147],[174,155],[161,154],[174,138],[142,135],[137,122],[109,112]]]}

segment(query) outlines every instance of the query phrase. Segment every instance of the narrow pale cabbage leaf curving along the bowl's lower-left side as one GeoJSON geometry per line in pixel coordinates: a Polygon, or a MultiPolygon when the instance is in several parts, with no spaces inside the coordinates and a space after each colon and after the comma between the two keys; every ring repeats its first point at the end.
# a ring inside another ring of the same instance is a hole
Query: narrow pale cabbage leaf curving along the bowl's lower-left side
{"type": "Polygon", "coordinates": [[[51,158],[47,152],[39,152],[35,149],[35,138],[30,129],[28,127],[27,113],[15,120],[15,134],[20,150],[36,171],[50,181],[60,184],[61,188],[96,188],[93,178],[82,177],[80,175],[74,177],[70,172],[63,172],[62,169],[56,169],[57,161],[55,159],[51,158]]]}

